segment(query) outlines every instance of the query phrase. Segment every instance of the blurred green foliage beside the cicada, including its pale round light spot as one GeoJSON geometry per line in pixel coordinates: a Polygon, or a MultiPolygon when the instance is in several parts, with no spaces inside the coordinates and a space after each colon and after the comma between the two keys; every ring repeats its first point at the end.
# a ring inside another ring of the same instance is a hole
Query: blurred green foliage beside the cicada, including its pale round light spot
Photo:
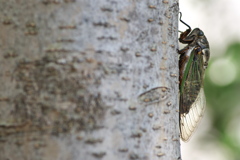
{"type": "Polygon", "coordinates": [[[211,126],[207,143],[218,143],[230,157],[240,159],[240,43],[228,46],[223,55],[212,57],[206,77],[205,95],[211,126]]]}

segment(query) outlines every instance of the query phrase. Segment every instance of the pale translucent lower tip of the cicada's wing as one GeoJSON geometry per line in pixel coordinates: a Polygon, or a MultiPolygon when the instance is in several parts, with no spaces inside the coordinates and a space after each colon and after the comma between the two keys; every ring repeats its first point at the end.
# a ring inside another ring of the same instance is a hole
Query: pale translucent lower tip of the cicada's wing
{"type": "Polygon", "coordinates": [[[203,88],[201,88],[198,97],[191,105],[189,112],[180,114],[180,132],[183,141],[188,141],[191,137],[200,119],[203,117],[205,106],[206,99],[203,88]]]}

